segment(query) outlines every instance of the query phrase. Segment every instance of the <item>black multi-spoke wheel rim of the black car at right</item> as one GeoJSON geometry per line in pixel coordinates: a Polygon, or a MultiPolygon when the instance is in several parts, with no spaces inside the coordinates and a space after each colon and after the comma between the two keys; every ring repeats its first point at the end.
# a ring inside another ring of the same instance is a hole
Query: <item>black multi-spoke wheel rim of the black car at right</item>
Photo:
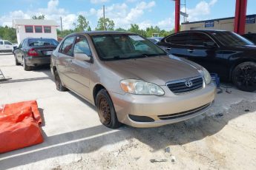
{"type": "Polygon", "coordinates": [[[236,80],[240,86],[256,86],[256,69],[250,66],[240,68],[236,80]]]}

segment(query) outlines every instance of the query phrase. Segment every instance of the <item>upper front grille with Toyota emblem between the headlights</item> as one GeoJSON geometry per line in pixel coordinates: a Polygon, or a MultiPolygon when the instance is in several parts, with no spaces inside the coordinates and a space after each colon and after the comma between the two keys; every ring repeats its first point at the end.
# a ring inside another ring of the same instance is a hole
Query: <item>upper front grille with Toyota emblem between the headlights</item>
{"type": "Polygon", "coordinates": [[[183,92],[191,92],[196,89],[201,89],[203,87],[203,78],[195,77],[195,78],[187,78],[180,81],[171,81],[166,84],[168,88],[174,94],[179,94],[183,92]],[[187,85],[186,85],[187,82],[187,85]],[[188,86],[191,85],[191,86],[188,86]]]}

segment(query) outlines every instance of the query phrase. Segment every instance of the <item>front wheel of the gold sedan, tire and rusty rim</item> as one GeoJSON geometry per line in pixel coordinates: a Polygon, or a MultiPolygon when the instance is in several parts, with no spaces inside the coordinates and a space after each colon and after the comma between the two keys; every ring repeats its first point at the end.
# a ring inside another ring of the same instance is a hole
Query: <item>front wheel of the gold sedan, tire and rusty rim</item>
{"type": "Polygon", "coordinates": [[[114,104],[108,95],[107,90],[101,89],[96,95],[96,109],[99,115],[100,122],[111,129],[119,128],[122,123],[116,117],[114,104]]]}

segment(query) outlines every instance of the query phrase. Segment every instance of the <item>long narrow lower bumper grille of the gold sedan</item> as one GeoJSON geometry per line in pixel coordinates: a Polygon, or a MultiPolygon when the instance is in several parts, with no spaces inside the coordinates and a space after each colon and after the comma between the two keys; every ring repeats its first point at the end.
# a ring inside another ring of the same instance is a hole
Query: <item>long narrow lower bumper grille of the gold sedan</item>
{"type": "Polygon", "coordinates": [[[184,116],[193,115],[196,112],[200,112],[203,109],[206,109],[206,107],[208,107],[210,105],[211,105],[211,103],[208,103],[206,105],[197,107],[196,109],[188,110],[186,112],[179,112],[179,113],[174,113],[174,114],[170,114],[170,115],[159,115],[158,118],[160,118],[160,120],[171,120],[171,119],[176,119],[176,118],[182,118],[184,116]]]}

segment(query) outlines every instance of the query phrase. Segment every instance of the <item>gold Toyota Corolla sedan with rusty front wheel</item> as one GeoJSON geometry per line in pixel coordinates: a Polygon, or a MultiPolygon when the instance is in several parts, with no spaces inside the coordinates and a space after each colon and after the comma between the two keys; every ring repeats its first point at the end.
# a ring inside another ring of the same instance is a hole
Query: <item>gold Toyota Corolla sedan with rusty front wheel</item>
{"type": "Polygon", "coordinates": [[[198,64],[134,33],[68,35],[51,56],[56,89],[96,106],[109,128],[163,126],[194,118],[214,102],[216,86],[198,64]]]}

